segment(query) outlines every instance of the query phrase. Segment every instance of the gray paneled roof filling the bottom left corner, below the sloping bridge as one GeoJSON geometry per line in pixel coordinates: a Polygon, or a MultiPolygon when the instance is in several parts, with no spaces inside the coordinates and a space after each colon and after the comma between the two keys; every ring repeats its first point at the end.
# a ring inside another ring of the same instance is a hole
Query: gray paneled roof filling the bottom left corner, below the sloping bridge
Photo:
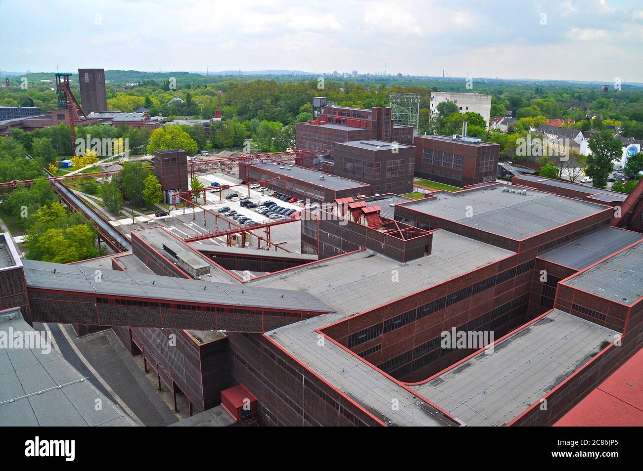
{"type": "Polygon", "coordinates": [[[55,346],[42,343],[43,333],[34,331],[19,309],[13,316],[6,314],[0,320],[3,336],[11,339],[13,335],[21,335],[32,342],[33,348],[0,348],[0,426],[136,425],[54,350],[55,346]],[[9,402],[12,399],[14,402],[9,402]],[[95,409],[96,399],[102,401],[100,411],[95,409]]]}

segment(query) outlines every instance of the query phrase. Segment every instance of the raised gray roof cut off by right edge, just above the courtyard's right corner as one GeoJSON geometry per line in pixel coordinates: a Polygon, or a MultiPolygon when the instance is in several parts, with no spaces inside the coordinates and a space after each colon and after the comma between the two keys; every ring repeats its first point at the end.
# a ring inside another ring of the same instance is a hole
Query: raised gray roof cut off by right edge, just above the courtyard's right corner
{"type": "Polygon", "coordinates": [[[640,301],[643,297],[643,242],[611,256],[563,284],[624,305],[640,301]]]}

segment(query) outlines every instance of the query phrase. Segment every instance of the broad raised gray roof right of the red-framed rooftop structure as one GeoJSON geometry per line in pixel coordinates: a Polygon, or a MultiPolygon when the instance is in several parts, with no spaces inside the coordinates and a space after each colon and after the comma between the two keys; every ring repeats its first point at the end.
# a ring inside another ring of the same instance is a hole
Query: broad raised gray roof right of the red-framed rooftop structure
{"type": "Polygon", "coordinates": [[[437,198],[415,200],[404,207],[514,240],[529,238],[607,209],[601,204],[543,191],[527,190],[526,195],[509,193],[503,191],[502,185],[458,193],[435,191],[431,195],[437,198]]]}

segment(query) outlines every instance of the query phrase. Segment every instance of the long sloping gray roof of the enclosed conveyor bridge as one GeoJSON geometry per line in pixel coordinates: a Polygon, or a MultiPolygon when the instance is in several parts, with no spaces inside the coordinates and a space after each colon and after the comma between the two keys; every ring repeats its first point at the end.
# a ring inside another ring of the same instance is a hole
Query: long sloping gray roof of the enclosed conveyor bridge
{"type": "Polygon", "coordinates": [[[266,289],[233,283],[185,280],[169,276],[102,270],[102,281],[95,281],[95,269],[79,265],[23,260],[27,286],[42,289],[73,290],[91,296],[113,295],[166,299],[186,303],[206,303],[230,307],[256,307],[303,312],[331,312],[332,308],[306,292],[292,289],[266,289]],[[55,273],[54,273],[55,270],[55,273]],[[283,297],[282,297],[283,296],[283,297]]]}

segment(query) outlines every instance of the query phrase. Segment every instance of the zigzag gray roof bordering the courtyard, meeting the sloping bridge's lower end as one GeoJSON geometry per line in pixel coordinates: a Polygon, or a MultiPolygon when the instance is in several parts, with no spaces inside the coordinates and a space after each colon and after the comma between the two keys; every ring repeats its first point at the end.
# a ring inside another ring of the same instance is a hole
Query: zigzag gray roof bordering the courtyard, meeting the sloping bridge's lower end
{"type": "Polygon", "coordinates": [[[315,330],[511,254],[511,251],[440,229],[433,233],[433,253],[406,264],[359,251],[257,278],[245,285],[302,290],[323,299],[337,311],[266,332],[266,335],[376,417],[385,422],[391,420],[395,425],[453,425],[417,396],[340,346],[330,341],[319,346],[315,330]],[[392,270],[399,273],[398,283],[391,281],[392,270]],[[398,411],[391,410],[394,398],[399,400],[398,411]]]}

